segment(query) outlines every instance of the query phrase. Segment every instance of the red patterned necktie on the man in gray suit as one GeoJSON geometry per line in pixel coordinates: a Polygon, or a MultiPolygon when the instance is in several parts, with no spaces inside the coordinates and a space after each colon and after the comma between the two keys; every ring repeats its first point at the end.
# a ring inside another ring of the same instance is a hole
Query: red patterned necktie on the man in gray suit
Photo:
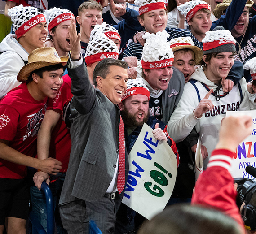
{"type": "Polygon", "coordinates": [[[117,177],[117,190],[119,194],[123,191],[125,184],[125,147],[124,147],[124,122],[120,116],[119,124],[119,164],[117,177]]]}

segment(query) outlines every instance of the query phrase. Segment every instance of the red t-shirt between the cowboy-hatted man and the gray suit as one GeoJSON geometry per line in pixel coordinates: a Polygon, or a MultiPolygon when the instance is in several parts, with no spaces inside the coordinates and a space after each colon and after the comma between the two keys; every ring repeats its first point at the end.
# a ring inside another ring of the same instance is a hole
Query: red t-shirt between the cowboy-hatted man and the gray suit
{"type": "MultiPolygon", "coordinates": [[[[58,110],[62,113],[64,105],[72,98],[71,78],[66,74],[63,76],[63,84],[54,99],[48,100],[47,109],[58,110]]],[[[62,162],[61,172],[66,172],[71,152],[70,131],[60,117],[51,135],[49,157],[56,158],[62,162]]]]}

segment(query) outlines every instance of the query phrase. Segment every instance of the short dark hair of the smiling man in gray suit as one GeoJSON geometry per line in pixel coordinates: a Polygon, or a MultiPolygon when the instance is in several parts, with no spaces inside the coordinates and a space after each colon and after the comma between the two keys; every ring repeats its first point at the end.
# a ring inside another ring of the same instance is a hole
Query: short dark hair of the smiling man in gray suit
{"type": "Polygon", "coordinates": [[[105,79],[106,76],[109,74],[110,66],[118,66],[124,69],[128,69],[127,63],[125,61],[121,61],[118,59],[106,58],[102,61],[99,61],[93,71],[93,84],[95,85],[95,87],[97,87],[97,76],[100,76],[103,79],[105,79]]]}

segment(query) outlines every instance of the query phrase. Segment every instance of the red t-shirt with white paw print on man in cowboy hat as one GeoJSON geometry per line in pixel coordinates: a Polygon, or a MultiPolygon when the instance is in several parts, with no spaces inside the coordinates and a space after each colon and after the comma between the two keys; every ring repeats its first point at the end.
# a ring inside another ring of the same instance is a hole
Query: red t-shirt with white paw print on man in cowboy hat
{"type": "MultiPolygon", "coordinates": [[[[9,91],[0,100],[0,139],[9,147],[27,156],[36,155],[37,133],[44,118],[47,97],[37,101],[26,83],[9,91]]],[[[26,166],[0,159],[0,178],[20,179],[26,176],[26,166]]]]}

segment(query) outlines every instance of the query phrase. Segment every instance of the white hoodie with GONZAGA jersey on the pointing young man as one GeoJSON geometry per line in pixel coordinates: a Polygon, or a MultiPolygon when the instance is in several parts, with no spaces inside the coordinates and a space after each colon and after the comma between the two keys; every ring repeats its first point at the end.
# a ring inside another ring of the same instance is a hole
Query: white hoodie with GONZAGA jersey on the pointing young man
{"type": "MultiPolygon", "coordinates": [[[[190,79],[198,81],[194,84],[198,88],[200,100],[205,97],[210,89],[213,88],[213,91],[215,91],[217,88],[213,82],[206,78],[202,67],[196,69],[190,79]],[[202,83],[205,84],[208,89],[204,87],[202,83]]],[[[233,87],[229,94],[224,94],[221,89],[221,97],[219,101],[216,101],[214,95],[210,95],[209,97],[214,105],[213,110],[207,111],[207,113],[203,114],[203,117],[198,119],[193,114],[194,109],[199,104],[198,93],[193,84],[187,82],[181,100],[168,122],[167,130],[170,136],[172,136],[172,139],[175,142],[184,140],[195,126],[197,132],[200,132],[201,144],[207,148],[208,155],[211,155],[211,152],[218,141],[221,120],[225,117],[226,111],[250,110],[245,78],[242,78],[239,81],[239,84],[243,95],[241,104],[241,95],[238,84],[233,87]]]]}

